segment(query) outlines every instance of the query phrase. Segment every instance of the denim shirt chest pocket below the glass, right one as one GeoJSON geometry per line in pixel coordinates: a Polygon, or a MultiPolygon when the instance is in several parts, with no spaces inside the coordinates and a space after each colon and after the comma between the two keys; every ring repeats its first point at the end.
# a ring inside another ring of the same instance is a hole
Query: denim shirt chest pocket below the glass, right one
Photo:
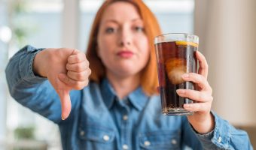
{"type": "Polygon", "coordinates": [[[142,149],[180,149],[181,133],[174,130],[160,130],[142,133],[139,146],[142,149]]]}

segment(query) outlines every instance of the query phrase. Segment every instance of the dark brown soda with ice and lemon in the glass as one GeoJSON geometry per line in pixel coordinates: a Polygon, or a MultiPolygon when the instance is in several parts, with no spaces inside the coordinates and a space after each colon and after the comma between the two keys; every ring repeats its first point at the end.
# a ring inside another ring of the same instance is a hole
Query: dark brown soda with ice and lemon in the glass
{"type": "Polygon", "coordinates": [[[194,103],[194,101],[179,97],[176,90],[194,89],[194,83],[184,82],[181,75],[190,72],[197,73],[197,58],[195,56],[197,43],[168,41],[156,43],[155,48],[163,114],[192,114],[192,112],[184,110],[183,105],[194,103]]]}

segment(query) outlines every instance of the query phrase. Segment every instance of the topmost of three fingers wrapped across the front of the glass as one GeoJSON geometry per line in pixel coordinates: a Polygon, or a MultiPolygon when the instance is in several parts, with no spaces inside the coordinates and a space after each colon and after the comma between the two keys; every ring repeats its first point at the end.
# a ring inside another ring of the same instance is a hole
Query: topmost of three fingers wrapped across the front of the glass
{"type": "Polygon", "coordinates": [[[197,86],[199,86],[200,90],[209,91],[212,93],[212,88],[209,86],[209,83],[206,80],[206,78],[203,77],[202,75],[195,74],[195,73],[188,73],[188,74],[183,74],[182,78],[184,81],[197,83],[197,86]]]}

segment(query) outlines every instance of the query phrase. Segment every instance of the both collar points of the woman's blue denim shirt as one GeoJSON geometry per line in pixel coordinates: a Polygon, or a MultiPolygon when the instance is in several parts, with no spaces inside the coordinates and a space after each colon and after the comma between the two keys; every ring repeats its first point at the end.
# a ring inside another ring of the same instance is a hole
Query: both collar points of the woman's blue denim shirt
{"type": "MultiPolygon", "coordinates": [[[[111,109],[115,99],[117,99],[117,95],[107,79],[102,80],[101,92],[106,107],[111,109]]],[[[142,91],[142,88],[139,87],[128,95],[128,101],[130,101],[133,107],[135,107],[137,110],[142,110],[148,101],[148,96],[145,95],[145,93],[142,91]]]]}

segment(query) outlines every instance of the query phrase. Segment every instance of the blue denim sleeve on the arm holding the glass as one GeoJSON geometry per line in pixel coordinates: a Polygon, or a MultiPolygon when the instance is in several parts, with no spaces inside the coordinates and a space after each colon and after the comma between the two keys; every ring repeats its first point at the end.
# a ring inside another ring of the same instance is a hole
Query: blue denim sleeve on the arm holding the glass
{"type": "Polygon", "coordinates": [[[212,114],[215,116],[215,129],[206,134],[196,133],[203,149],[253,149],[244,130],[237,130],[215,113],[212,114]]]}

